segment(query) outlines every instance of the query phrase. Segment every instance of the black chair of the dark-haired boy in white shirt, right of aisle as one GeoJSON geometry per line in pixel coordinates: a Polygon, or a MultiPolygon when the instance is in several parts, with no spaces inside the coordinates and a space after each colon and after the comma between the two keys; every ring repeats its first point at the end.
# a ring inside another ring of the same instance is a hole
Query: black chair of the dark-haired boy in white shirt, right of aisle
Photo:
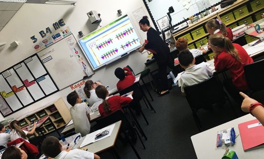
{"type": "MultiPolygon", "coordinates": [[[[227,96],[227,93],[224,91],[223,85],[215,77],[206,79],[198,84],[192,86],[187,86],[184,88],[186,93],[186,99],[189,103],[189,106],[192,110],[193,118],[198,127],[198,130],[201,132],[200,127],[201,122],[197,116],[197,111],[201,108],[208,108],[215,103],[223,103],[226,99],[230,99],[227,96]],[[205,98],[205,94],[214,94],[213,97],[205,98]]],[[[233,107],[231,107],[235,113],[233,107]]],[[[236,116],[236,114],[235,114],[236,116]]]]}

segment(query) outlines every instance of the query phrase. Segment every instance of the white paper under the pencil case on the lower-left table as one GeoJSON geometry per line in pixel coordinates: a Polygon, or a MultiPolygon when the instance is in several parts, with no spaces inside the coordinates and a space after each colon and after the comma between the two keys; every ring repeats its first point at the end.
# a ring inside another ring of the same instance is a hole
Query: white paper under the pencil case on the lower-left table
{"type": "Polygon", "coordinates": [[[112,125],[107,126],[107,127],[103,128],[103,129],[100,129],[100,130],[97,130],[97,131],[95,131],[93,133],[87,134],[85,136],[85,138],[84,138],[84,140],[83,140],[83,142],[82,142],[82,144],[81,144],[80,147],[82,148],[82,147],[84,147],[86,145],[89,145],[89,144],[95,143],[97,141],[103,140],[103,139],[105,139],[107,137],[110,137],[111,134],[112,134],[112,132],[113,132],[113,130],[114,130],[115,125],[116,124],[112,124],[112,125]],[[109,134],[108,135],[106,135],[106,136],[104,136],[102,138],[99,138],[99,139],[95,140],[95,137],[96,137],[97,134],[99,134],[99,133],[101,133],[101,132],[103,132],[103,131],[105,131],[107,129],[109,129],[109,134]]]}

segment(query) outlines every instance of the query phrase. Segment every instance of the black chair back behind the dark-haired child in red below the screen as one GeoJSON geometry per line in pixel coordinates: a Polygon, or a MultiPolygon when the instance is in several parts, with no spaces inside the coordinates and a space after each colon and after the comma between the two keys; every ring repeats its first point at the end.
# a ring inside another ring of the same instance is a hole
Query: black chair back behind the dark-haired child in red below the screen
{"type": "Polygon", "coordinates": [[[119,94],[124,95],[126,93],[131,92],[131,91],[133,91],[132,97],[134,100],[140,100],[144,96],[144,94],[141,92],[141,89],[139,88],[137,83],[133,83],[131,86],[129,86],[123,90],[120,90],[119,94]]]}

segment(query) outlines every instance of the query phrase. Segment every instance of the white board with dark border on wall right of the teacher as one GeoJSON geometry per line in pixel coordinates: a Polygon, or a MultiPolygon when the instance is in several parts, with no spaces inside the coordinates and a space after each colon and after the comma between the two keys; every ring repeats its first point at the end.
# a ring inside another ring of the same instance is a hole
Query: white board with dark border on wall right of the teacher
{"type": "MultiPolygon", "coordinates": [[[[157,20],[167,15],[168,8],[173,7],[174,12],[170,14],[171,23],[175,25],[181,22],[184,18],[188,18],[222,0],[144,0],[149,8],[150,15],[152,14],[154,23],[157,20]]],[[[158,27],[159,29],[159,27],[158,27]]],[[[159,29],[159,31],[161,31],[159,29]]]]}

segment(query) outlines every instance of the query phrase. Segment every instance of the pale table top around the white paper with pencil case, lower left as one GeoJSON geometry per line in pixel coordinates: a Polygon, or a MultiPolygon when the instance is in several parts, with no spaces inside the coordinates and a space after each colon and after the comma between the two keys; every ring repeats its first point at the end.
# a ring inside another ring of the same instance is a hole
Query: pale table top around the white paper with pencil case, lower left
{"type": "MultiPolygon", "coordinates": [[[[117,141],[117,137],[118,137],[118,133],[119,133],[119,130],[121,127],[121,123],[122,123],[122,121],[118,121],[118,122],[114,123],[115,127],[114,127],[113,132],[110,135],[110,137],[107,137],[103,140],[97,141],[93,144],[84,146],[81,149],[82,150],[88,149],[87,151],[89,151],[91,153],[100,153],[100,152],[103,152],[107,149],[113,148],[116,144],[116,141],[117,141]]],[[[81,139],[81,141],[79,142],[78,145],[81,145],[83,140],[84,140],[84,137],[81,139]]]]}

